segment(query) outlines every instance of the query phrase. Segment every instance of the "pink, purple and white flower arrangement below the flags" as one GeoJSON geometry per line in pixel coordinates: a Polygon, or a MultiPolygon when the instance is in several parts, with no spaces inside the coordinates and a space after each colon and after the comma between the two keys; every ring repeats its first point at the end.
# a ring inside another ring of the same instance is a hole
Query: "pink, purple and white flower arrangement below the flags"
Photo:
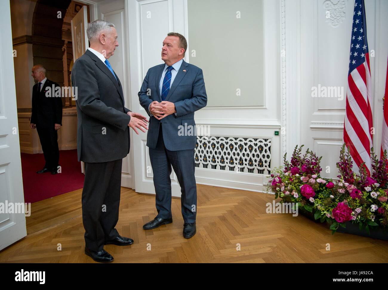
{"type": "Polygon", "coordinates": [[[271,172],[268,189],[281,197],[282,202],[298,203],[298,208],[314,215],[315,220],[330,224],[333,234],[338,227],[346,227],[351,221],[360,230],[378,227],[388,228],[388,161],[384,152],[378,160],[371,152],[372,174],[367,175],[364,164],[360,172],[352,170],[353,161],[349,149],[343,144],[337,163],[339,180],[320,177],[320,160],[307,149],[302,156],[302,146],[296,146],[291,161],[271,172]]]}

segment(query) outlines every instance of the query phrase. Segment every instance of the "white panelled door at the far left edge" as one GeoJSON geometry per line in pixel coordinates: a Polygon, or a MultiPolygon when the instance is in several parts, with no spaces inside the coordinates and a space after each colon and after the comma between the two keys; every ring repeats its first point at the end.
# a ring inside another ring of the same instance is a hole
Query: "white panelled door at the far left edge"
{"type": "MultiPolygon", "coordinates": [[[[5,204],[23,204],[23,179],[17,125],[14,60],[9,1],[0,9],[0,250],[27,235],[24,213],[10,213],[5,204]]],[[[17,51],[16,51],[17,57],[17,51]]],[[[21,209],[21,207],[19,207],[21,209]]]]}

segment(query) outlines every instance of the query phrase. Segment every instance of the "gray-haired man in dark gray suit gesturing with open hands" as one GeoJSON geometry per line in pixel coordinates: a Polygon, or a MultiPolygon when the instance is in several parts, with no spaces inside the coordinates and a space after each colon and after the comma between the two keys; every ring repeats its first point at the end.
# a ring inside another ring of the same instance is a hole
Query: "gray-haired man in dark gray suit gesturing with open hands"
{"type": "Polygon", "coordinates": [[[108,58],[118,46],[114,25],[103,20],[88,24],[90,48],[74,63],[78,161],[85,162],[82,190],[82,221],[85,254],[97,262],[113,257],[104,244],[130,245],[114,228],[120,205],[121,164],[129,153],[129,127],[145,132],[147,118],[124,107],[123,88],[108,58]]]}

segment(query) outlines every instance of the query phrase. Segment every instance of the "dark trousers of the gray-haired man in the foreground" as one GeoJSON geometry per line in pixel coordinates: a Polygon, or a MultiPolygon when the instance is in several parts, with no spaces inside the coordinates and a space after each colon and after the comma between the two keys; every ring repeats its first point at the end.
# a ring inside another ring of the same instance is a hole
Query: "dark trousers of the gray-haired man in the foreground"
{"type": "Polygon", "coordinates": [[[119,235],[114,227],[119,219],[122,163],[122,159],[102,163],[85,162],[82,221],[85,244],[92,251],[101,251],[104,241],[113,240],[119,235]]]}

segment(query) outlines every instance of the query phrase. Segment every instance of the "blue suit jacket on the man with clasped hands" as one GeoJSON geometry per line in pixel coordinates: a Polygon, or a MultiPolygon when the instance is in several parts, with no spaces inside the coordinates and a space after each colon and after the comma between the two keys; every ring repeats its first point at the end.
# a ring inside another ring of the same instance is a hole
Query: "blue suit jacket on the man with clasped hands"
{"type": "Polygon", "coordinates": [[[148,111],[152,101],[161,102],[159,82],[165,64],[156,65],[147,71],[139,92],[140,105],[150,116],[147,146],[155,149],[158,141],[159,125],[163,126],[165,147],[170,151],[194,149],[196,146],[196,128],[194,112],[206,106],[206,96],[203,73],[199,67],[182,62],[165,101],[175,104],[177,115],[171,114],[158,120],[148,111]]]}

